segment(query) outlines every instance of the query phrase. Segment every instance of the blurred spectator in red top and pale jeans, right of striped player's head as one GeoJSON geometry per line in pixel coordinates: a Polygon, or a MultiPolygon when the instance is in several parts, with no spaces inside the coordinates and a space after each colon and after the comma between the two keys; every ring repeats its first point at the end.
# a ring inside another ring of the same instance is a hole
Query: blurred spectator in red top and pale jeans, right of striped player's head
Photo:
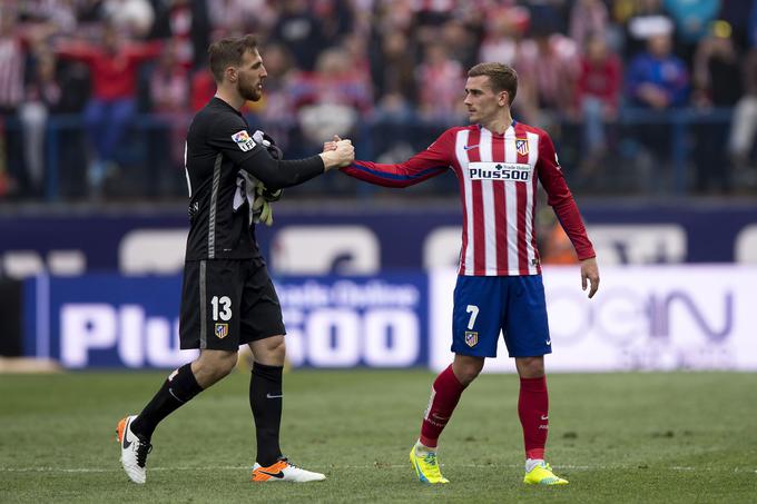
{"type": "Polygon", "coordinates": [[[618,117],[621,82],[620,59],[609,51],[604,36],[588,38],[576,93],[583,123],[583,178],[594,174],[607,154],[604,123],[618,117]]]}

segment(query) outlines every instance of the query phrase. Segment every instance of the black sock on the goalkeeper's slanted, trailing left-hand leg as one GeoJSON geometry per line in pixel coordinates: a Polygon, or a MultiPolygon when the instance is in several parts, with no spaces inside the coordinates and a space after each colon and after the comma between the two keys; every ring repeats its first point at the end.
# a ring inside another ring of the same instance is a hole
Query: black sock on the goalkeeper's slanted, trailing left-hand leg
{"type": "Polygon", "coordinates": [[[185,364],[168,376],[155,397],[131,423],[131,431],[149,439],[160,421],[200,392],[203,387],[197,384],[191,373],[191,363],[185,364]]]}

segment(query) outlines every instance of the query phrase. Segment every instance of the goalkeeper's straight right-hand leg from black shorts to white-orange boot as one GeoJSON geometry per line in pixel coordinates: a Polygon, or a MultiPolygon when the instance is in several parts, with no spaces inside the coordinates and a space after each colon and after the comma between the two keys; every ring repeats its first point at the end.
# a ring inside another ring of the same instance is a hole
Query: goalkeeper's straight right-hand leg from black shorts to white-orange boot
{"type": "Polygon", "coordinates": [[[325,480],[325,475],[299,468],[282,455],[279,427],[286,357],[282,308],[265,264],[252,260],[247,268],[240,324],[243,343],[248,343],[253,353],[249,407],[255,421],[257,455],[252,480],[296,483],[325,480]]]}

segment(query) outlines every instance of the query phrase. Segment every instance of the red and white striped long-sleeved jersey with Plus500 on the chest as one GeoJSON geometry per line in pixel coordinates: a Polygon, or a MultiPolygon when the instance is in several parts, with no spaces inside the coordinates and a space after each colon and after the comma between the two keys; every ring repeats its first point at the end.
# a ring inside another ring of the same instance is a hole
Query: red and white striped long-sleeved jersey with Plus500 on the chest
{"type": "Polygon", "coordinates": [[[594,257],[552,140],[539,128],[513,121],[499,135],[480,125],[455,127],[405,162],[355,161],[343,171],[380,186],[407,187],[450,168],[458,176],[463,208],[460,275],[541,273],[534,230],[537,180],[578,258],[594,257]]]}

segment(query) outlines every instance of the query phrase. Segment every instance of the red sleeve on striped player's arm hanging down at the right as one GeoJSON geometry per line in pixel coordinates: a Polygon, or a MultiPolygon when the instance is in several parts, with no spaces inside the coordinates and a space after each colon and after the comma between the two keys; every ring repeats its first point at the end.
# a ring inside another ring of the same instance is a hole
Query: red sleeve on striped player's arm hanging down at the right
{"type": "Polygon", "coordinates": [[[573,195],[566,184],[562,169],[558,161],[552,140],[548,135],[541,135],[539,141],[539,160],[537,161],[539,181],[547,191],[547,202],[554,209],[560,225],[576,248],[579,260],[596,257],[594,248],[587,236],[581,214],[573,199],[573,195]]]}

